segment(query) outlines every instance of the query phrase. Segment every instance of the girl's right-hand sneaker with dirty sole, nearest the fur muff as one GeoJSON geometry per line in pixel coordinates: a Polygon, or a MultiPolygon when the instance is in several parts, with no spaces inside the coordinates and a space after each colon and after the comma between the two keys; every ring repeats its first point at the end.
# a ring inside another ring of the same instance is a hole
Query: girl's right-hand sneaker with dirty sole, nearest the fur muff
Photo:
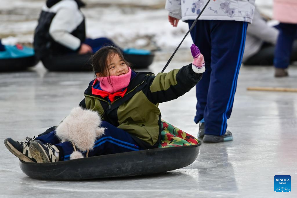
{"type": "Polygon", "coordinates": [[[38,163],[51,163],[59,161],[59,149],[50,143],[43,144],[34,140],[29,145],[30,152],[38,163]]]}

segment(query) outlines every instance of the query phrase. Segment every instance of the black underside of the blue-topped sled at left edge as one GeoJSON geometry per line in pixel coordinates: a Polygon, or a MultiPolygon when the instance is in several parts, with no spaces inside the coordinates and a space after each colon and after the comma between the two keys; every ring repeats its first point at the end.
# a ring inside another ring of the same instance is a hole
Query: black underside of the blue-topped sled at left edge
{"type": "Polygon", "coordinates": [[[38,63],[35,56],[27,56],[22,58],[3,58],[0,59],[0,72],[13,72],[26,70],[28,67],[38,63]]]}

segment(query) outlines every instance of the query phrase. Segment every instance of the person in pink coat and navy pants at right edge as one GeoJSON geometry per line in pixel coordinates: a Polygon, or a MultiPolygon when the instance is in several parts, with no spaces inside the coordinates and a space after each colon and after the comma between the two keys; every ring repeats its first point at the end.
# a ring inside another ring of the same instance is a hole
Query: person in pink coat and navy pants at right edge
{"type": "Polygon", "coordinates": [[[274,0],[274,19],[279,20],[279,35],[275,47],[275,77],[288,76],[292,45],[297,32],[297,1],[274,0]]]}

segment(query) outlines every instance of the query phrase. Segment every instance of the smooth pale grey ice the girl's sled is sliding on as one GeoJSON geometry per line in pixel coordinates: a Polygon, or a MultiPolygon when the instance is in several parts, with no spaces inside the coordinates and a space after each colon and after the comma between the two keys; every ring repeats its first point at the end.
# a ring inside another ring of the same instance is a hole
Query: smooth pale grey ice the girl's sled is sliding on
{"type": "MultiPolygon", "coordinates": [[[[166,69],[179,68],[188,51],[178,51],[166,69]]],[[[169,56],[169,55],[167,55],[169,56]]],[[[149,71],[159,72],[165,61],[149,71]]],[[[196,161],[159,175],[89,181],[40,181],[20,170],[18,159],[0,144],[0,197],[296,197],[297,95],[247,91],[247,86],[296,86],[275,79],[271,67],[242,67],[228,129],[231,142],[201,145],[196,161]],[[274,175],[292,176],[292,191],[276,194],[274,175]]],[[[0,74],[0,142],[22,140],[58,124],[83,99],[92,72],[47,72],[41,64],[27,72],[0,74]]],[[[195,89],[160,104],[162,118],[197,136],[195,89]]],[[[168,162],[174,163],[174,162],[168,162]]]]}

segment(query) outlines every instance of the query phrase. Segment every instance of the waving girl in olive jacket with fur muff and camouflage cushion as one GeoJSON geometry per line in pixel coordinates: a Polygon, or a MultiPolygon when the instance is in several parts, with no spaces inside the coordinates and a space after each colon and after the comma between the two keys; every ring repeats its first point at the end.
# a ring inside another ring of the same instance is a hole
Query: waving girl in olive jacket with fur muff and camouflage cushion
{"type": "Polygon", "coordinates": [[[4,144],[19,159],[38,163],[197,144],[194,137],[163,121],[158,108],[202,78],[203,55],[194,44],[191,52],[191,64],[155,76],[133,71],[118,48],[102,47],[93,55],[96,78],[79,107],[35,139],[7,138],[4,144]]]}

